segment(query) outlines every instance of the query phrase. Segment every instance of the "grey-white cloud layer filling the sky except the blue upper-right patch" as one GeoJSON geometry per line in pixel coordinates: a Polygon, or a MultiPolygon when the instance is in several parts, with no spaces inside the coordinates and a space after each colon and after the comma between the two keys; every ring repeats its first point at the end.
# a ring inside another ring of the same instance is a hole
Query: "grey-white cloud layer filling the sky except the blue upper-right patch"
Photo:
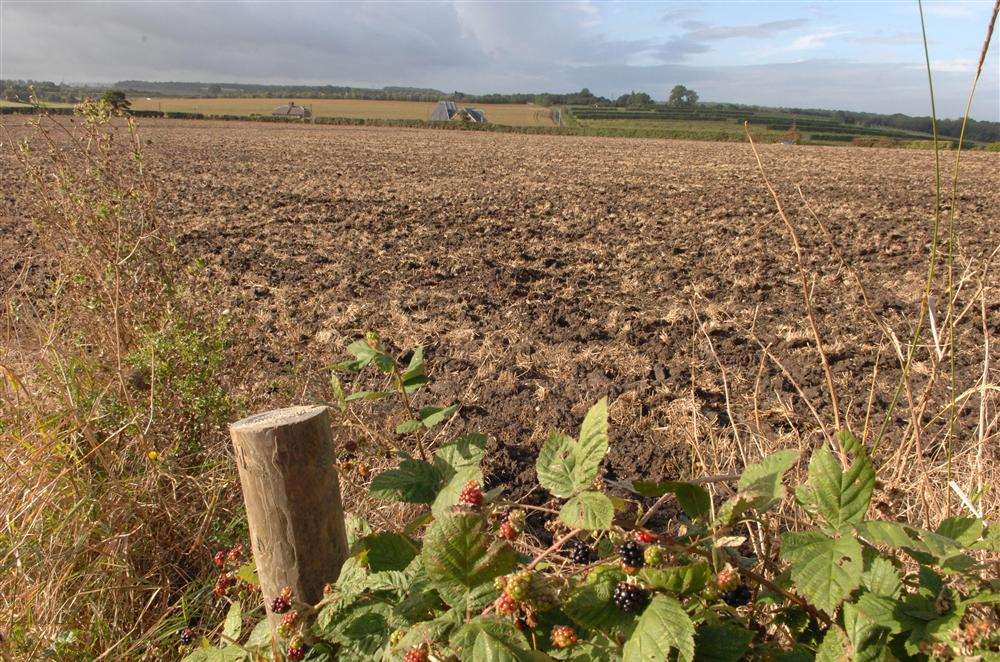
{"type": "MultiPolygon", "coordinates": [[[[678,25],[698,15],[695,6],[672,9],[684,11],[675,18],[678,25]]],[[[588,87],[606,96],[646,90],[661,99],[682,83],[705,100],[927,112],[926,80],[919,67],[911,67],[919,64],[918,53],[896,63],[697,65],[700,55],[737,35],[768,33],[775,46],[787,49],[790,41],[808,49],[853,38],[841,28],[790,39],[805,24],[802,19],[701,22],[665,36],[630,38],[595,23],[604,11],[605,5],[590,3],[3,0],[0,77],[412,85],[472,93],[588,87]]],[[[756,53],[764,53],[772,43],[755,45],[756,53]]],[[[975,106],[982,119],[1000,115],[994,58],[984,68],[975,106]]],[[[954,60],[935,67],[945,115],[962,111],[970,77],[965,66],[954,60]]]]}

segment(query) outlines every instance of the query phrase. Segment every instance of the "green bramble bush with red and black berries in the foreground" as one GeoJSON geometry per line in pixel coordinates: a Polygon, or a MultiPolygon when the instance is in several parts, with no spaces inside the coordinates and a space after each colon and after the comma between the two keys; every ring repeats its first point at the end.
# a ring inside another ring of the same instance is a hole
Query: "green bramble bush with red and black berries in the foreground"
{"type": "MultiPolygon", "coordinates": [[[[417,438],[454,414],[454,406],[413,408],[428,383],[421,348],[406,363],[374,335],[349,350],[353,360],[337,370],[376,370],[387,386],[345,395],[334,376],[339,406],[396,398],[407,416],[397,432],[417,438]]],[[[542,446],[536,470],[551,507],[539,508],[509,501],[502,486],[483,490],[483,436],[414,444],[416,455],[400,453],[370,492],[417,504],[420,514],[398,532],[353,518],[352,556],[319,604],[264,596],[283,614],[277,658],[266,619],[241,637],[233,600],[220,645],[192,642],[186,659],[891,660],[1000,651],[1000,528],[970,517],[934,531],[868,519],[875,470],[849,431],[813,452],[795,507],[781,512],[798,451],[746,467],[721,499],[706,485],[728,477],[604,481],[608,447],[602,399],[576,437],[554,432],[542,446]],[[674,500],[677,515],[667,517],[663,506],[674,500]],[[526,508],[549,518],[544,549],[527,543],[526,508]]],[[[239,574],[240,585],[252,580],[252,566],[239,574]]]]}

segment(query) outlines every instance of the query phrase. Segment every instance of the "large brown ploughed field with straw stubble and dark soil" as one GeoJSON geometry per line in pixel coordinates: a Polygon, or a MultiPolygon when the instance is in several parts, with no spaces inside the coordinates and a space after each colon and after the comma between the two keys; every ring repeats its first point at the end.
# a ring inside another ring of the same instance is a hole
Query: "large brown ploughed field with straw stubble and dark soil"
{"type": "MultiPolygon", "coordinates": [[[[603,395],[612,479],[724,472],[761,446],[818,443],[803,395],[831,425],[792,246],[745,143],[169,120],[141,131],[180,250],[219,288],[251,406],[328,399],[329,366],[365,331],[425,344],[433,384],[417,404],[461,401],[441,434],[486,433],[490,486],[515,496],[534,484],[548,434],[574,432],[603,395]]],[[[760,149],[800,235],[842,413],[860,433],[876,361],[874,423],[900,374],[872,315],[904,343],[917,315],[933,153],[760,149]]],[[[959,267],[981,269],[1000,243],[998,166],[997,155],[963,157],[959,267]]],[[[10,228],[16,189],[4,196],[10,228]]],[[[4,234],[4,251],[30,245],[23,225],[4,234]]],[[[1000,268],[986,280],[995,339],[1000,268]]],[[[979,308],[959,325],[962,390],[983,370],[979,308]]],[[[928,372],[922,349],[918,393],[928,372]]],[[[402,420],[381,403],[362,407],[383,436],[402,420]]],[[[977,420],[970,401],[959,443],[977,420]]],[[[880,454],[908,421],[895,417],[880,454]]]]}

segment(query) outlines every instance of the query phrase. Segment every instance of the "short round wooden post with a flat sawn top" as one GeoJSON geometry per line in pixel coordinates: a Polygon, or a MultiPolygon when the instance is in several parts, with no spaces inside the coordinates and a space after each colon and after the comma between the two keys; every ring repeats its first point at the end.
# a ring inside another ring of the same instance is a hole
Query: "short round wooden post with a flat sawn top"
{"type": "Polygon", "coordinates": [[[315,604],[348,556],[327,407],[276,409],[229,426],[243,486],[250,544],[272,633],[270,602],[282,588],[315,604]]]}

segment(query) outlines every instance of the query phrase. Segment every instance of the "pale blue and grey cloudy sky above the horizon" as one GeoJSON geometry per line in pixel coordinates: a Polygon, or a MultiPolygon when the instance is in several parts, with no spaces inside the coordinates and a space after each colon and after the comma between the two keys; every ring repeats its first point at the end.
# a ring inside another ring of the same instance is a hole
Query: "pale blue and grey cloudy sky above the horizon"
{"type": "MultiPolygon", "coordinates": [[[[924,3],[938,114],[964,112],[993,0],[924,3]]],[[[973,105],[1000,121],[1000,29],[973,105]]],[[[928,115],[916,0],[0,0],[0,78],[570,92],[928,115]]]]}

